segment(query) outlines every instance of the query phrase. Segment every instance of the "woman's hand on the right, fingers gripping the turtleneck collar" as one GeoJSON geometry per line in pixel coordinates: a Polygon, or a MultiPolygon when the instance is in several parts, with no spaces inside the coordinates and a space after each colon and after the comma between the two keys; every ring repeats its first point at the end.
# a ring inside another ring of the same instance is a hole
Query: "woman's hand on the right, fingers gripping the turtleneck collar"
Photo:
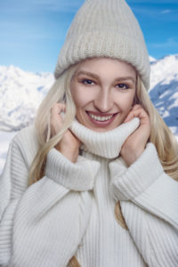
{"type": "Polygon", "coordinates": [[[141,105],[134,105],[133,109],[125,118],[124,123],[132,120],[134,117],[140,118],[140,125],[126,139],[120,153],[125,159],[127,166],[132,165],[141,156],[150,137],[150,117],[141,105]]]}

